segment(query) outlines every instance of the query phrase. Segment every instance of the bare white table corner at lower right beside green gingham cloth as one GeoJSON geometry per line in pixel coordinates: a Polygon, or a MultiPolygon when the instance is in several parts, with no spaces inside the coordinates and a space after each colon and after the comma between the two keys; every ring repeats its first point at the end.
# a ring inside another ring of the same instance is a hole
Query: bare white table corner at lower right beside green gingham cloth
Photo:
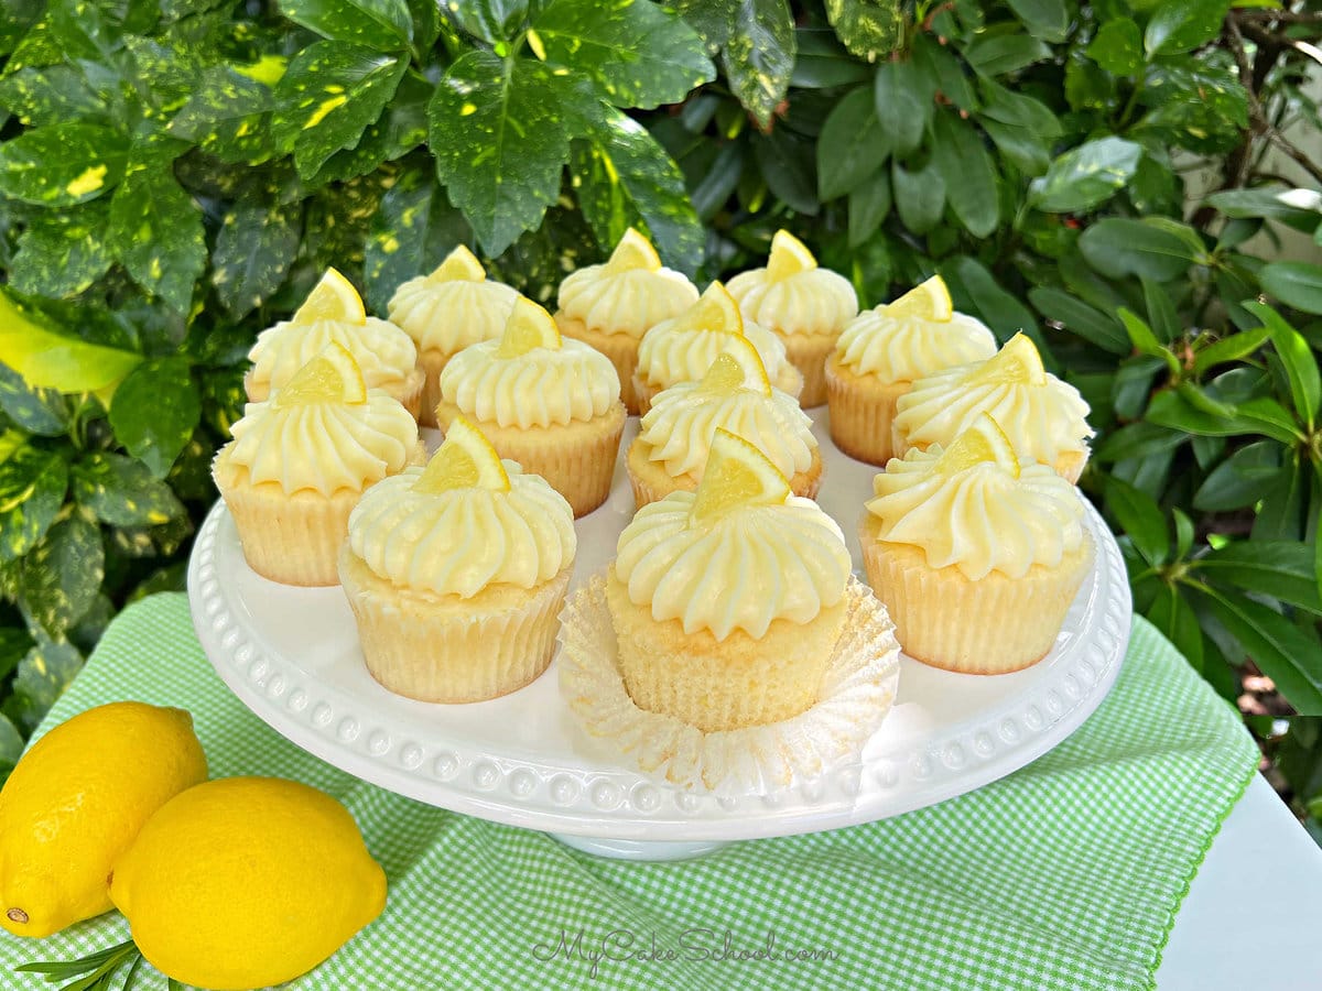
{"type": "Polygon", "coordinates": [[[1212,842],[1157,991],[1322,990],[1322,848],[1261,776],[1212,842]]]}

